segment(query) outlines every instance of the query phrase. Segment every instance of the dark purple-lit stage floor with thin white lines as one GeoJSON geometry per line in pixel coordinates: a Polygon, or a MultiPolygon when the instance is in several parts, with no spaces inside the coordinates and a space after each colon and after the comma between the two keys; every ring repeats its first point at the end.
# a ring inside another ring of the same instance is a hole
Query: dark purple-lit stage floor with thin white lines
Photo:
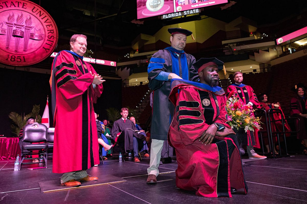
{"type": "Polygon", "coordinates": [[[0,161],[0,203],[307,203],[307,155],[245,161],[251,164],[243,167],[248,194],[240,189],[233,198],[205,198],[176,188],[177,164],[160,165],[158,183],[147,185],[149,158],[140,163],[109,158],[88,170],[92,176],[110,174],[125,182],[47,193],[41,193],[38,182],[58,180],[60,185],[61,175],[52,173],[51,159],[47,169],[27,169],[35,164],[23,165],[20,171],[14,171],[13,160],[0,161]]]}

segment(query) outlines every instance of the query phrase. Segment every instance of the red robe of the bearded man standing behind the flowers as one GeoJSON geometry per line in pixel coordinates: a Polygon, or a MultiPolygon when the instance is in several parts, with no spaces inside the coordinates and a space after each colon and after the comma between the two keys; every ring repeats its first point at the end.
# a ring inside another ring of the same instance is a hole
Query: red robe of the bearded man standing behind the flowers
{"type": "MultiPolygon", "coordinates": [[[[234,91],[235,93],[238,94],[238,98],[243,104],[252,102],[255,106],[257,106],[257,108],[260,108],[258,98],[256,94],[254,93],[254,90],[252,89],[251,86],[245,85],[243,83],[241,83],[240,85],[234,83],[234,84],[231,84],[229,87],[227,87],[227,94],[229,94],[231,91],[234,91]]],[[[244,135],[246,136],[243,136],[242,138],[243,146],[249,146],[248,138],[250,138],[252,146],[256,148],[260,148],[260,143],[259,143],[259,138],[258,138],[258,129],[255,129],[254,132],[247,130],[247,132],[244,133],[244,135]]]]}

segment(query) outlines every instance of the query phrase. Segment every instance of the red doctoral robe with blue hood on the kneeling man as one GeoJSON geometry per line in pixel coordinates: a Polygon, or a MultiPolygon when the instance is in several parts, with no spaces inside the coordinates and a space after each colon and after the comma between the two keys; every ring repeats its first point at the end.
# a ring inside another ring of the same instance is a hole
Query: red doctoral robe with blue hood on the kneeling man
{"type": "Polygon", "coordinates": [[[216,136],[208,145],[199,141],[212,123],[230,128],[223,89],[174,80],[169,99],[176,106],[169,128],[169,144],[178,162],[176,186],[205,197],[232,197],[230,187],[247,193],[236,136],[216,136]],[[234,149],[231,159],[230,146],[234,149]]]}

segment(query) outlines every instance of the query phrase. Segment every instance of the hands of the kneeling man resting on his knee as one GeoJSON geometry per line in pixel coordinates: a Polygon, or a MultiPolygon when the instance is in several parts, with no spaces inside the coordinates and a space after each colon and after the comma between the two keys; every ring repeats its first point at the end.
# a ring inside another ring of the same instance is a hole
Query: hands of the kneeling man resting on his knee
{"type": "Polygon", "coordinates": [[[204,132],[204,134],[202,134],[199,138],[199,141],[201,141],[201,143],[207,145],[207,144],[211,144],[214,137],[215,136],[219,136],[219,137],[224,137],[226,135],[230,135],[230,134],[234,134],[235,132],[230,129],[225,127],[223,129],[223,131],[218,132],[217,131],[217,127],[215,124],[211,124],[208,129],[204,132]]]}

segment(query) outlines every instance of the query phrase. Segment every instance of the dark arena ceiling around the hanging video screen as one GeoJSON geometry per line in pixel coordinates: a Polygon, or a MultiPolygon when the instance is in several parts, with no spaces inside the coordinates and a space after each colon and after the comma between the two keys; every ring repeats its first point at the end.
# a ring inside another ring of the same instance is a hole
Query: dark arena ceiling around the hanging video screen
{"type": "MultiPolygon", "coordinates": [[[[116,47],[130,46],[140,33],[154,35],[165,25],[199,19],[199,16],[161,20],[158,17],[137,20],[136,0],[33,0],[55,19],[60,36],[84,33],[90,41],[116,47]],[[96,8],[96,9],[95,9],[96,8]],[[95,17],[96,10],[96,17],[95,17]],[[96,31],[96,32],[95,32],[96,31]],[[96,33],[96,35],[95,35],[96,33]]],[[[230,22],[243,16],[258,26],[299,15],[307,8],[307,1],[294,0],[233,0],[226,9],[208,7],[200,15],[230,22]]],[[[222,5],[225,6],[225,5],[222,5]]]]}

